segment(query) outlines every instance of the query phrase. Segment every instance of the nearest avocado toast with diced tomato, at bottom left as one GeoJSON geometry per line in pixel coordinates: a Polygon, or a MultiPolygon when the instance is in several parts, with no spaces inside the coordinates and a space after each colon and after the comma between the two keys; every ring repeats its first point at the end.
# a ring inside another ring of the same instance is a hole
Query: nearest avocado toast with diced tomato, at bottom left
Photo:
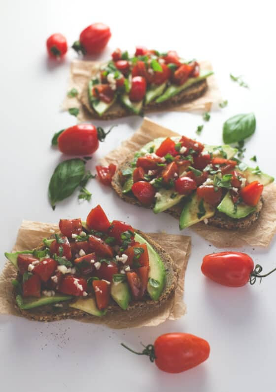
{"type": "Polygon", "coordinates": [[[59,227],[33,250],[5,253],[18,270],[10,295],[24,316],[134,319],[173,295],[178,271],[169,254],[127,223],[110,223],[100,205],[86,222],[61,219],[59,227]]]}

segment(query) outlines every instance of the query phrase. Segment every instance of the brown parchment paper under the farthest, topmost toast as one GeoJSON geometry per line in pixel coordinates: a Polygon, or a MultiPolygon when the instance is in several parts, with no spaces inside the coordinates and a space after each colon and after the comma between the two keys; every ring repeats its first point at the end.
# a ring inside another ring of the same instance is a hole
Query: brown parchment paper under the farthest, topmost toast
{"type": "MultiPolygon", "coordinates": [[[[73,98],[70,98],[66,95],[66,98],[62,104],[62,109],[68,110],[69,108],[78,108],[79,114],[77,118],[80,121],[87,121],[93,118],[91,114],[83,107],[80,96],[82,91],[87,88],[90,78],[96,75],[99,65],[101,65],[101,63],[96,61],[74,60],[71,63],[68,91],[74,87],[77,89],[78,95],[77,97],[73,98]]],[[[201,61],[200,66],[202,70],[212,70],[211,63],[208,61],[201,61]]],[[[194,101],[168,108],[168,110],[178,112],[202,110],[209,112],[214,104],[218,104],[222,101],[222,97],[214,75],[207,78],[207,83],[208,89],[203,96],[195,99],[194,101]]]]}

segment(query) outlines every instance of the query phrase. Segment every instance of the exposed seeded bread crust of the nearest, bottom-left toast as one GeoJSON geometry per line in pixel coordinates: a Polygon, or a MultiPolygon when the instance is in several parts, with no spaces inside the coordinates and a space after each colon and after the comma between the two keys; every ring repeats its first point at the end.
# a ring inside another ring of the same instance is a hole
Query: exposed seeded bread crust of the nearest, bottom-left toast
{"type": "MultiPolygon", "coordinates": [[[[164,305],[166,302],[173,296],[173,293],[176,289],[178,276],[179,276],[179,268],[173,263],[171,256],[165,252],[165,250],[157,244],[152,238],[139,230],[135,230],[139,235],[141,235],[148,243],[154,248],[154,250],[159,254],[161,260],[164,263],[164,267],[166,270],[166,281],[164,290],[158,301],[153,301],[151,299],[146,299],[144,301],[132,301],[125,311],[119,307],[113,300],[112,303],[107,308],[107,313],[104,316],[98,317],[86,312],[83,312],[78,309],[69,308],[69,303],[72,301],[64,301],[62,302],[63,308],[56,308],[51,305],[44,305],[39,308],[34,308],[30,310],[20,309],[15,301],[16,290],[14,289],[12,292],[12,299],[14,302],[15,308],[24,316],[31,320],[36,321],[56,321],[67,318],[83,318],[85,317],[87,321],[95,321],[95,322],[103,322],[103,323],[114,323],[118,322],[120,327],[128,327],[130,323],[138,318],[144,318],[146,315],[150,317],[151,314],[156,314],[158,310],[164,305]],[[124,325],[124,326],[123,326],[124,325]]],[[[53,237],[53,236],[52,236],[53,237]]],[[[37,246],[37,250],[42,250],[45,248],[44,244],[40,244],[37,246]]]]}

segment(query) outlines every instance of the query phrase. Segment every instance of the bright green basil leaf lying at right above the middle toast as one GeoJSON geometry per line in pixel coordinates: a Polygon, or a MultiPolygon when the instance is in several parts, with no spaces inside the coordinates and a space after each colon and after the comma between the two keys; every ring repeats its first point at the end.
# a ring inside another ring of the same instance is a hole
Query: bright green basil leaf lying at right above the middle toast
{"type": "Polygon", "coordinates": [[[223,142],[225,144],[240,142],[253,135],[256,129],[254,113],[236,115],[223,124],[223,142]]]}

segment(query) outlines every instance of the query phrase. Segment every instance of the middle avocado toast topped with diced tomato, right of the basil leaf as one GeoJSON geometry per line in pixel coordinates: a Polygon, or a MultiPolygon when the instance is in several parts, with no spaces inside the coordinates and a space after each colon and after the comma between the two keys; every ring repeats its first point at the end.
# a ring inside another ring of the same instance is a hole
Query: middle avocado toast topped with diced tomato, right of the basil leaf
{"type": "Polygon", "coordinates": [[[258,219],[263,188],[274,178],[248,167],[236,153],[186,136],[158,138],[126,158],[112,186],[125,201],[179,218],[180,230],[200,221],[246,229],[258,219]]]}

